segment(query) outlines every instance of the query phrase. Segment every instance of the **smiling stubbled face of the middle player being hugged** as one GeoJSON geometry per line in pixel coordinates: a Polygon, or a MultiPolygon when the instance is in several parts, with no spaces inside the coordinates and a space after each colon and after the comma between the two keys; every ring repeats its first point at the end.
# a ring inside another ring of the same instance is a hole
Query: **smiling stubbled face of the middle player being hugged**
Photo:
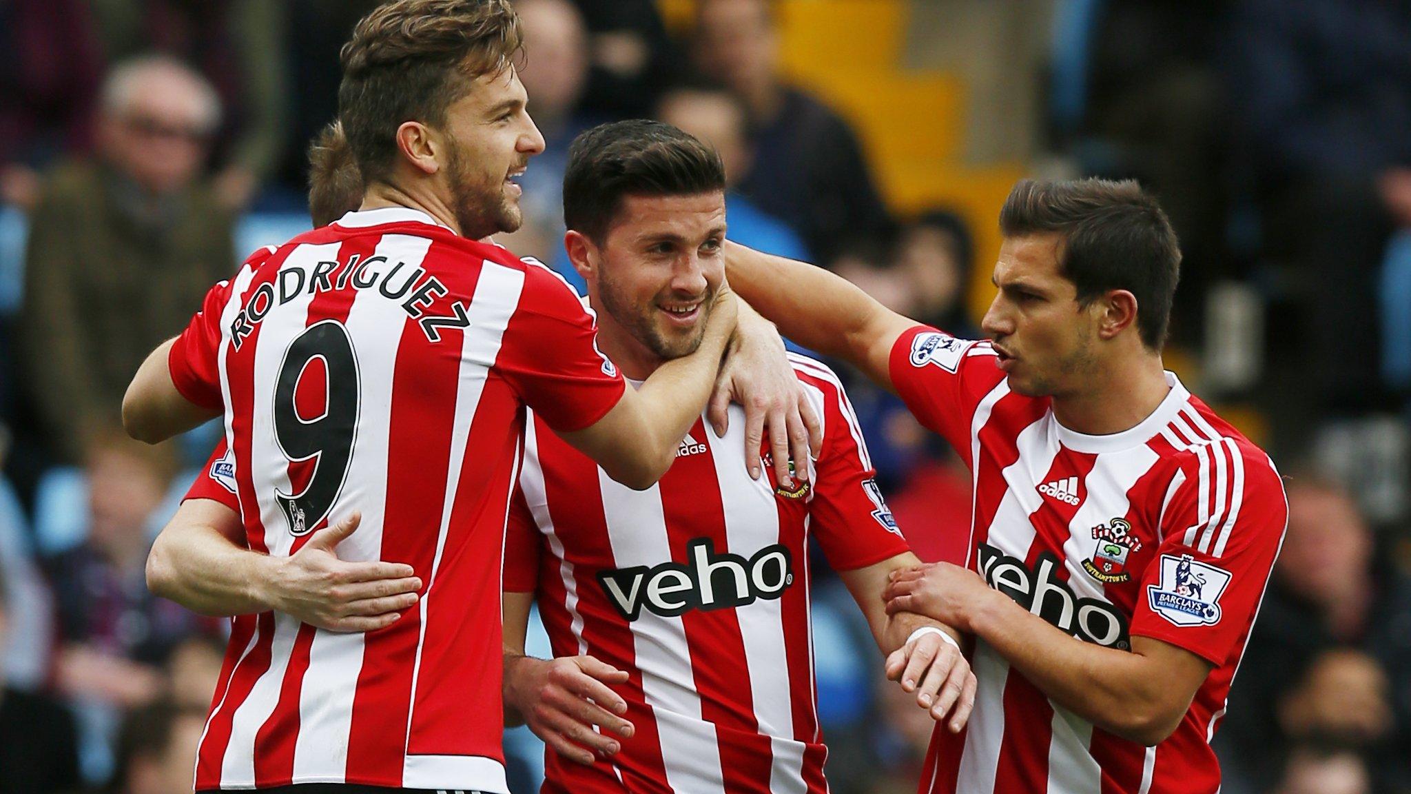
{"type": "Polygon", "coordinates": [[[626,196],[601,246],[579,237],[608,357],[645,377],[696,352],[725,278],[725,194],[626,196]]]}

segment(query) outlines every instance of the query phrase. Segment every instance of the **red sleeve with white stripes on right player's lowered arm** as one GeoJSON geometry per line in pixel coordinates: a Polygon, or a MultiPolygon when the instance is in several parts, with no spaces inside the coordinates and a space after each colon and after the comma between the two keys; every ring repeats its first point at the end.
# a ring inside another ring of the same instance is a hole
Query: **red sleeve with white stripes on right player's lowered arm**
{"type": "Polygon", "coordinates": [[[1199,448],[1174,478],[1181,482],[1161,516],[1163,541],[1143,575],[1132,634],[1221,667],[1253,626],[1288,504],[1268,458],[1228,438],[1199,448]],[[1218,476],[1213,455],[1225,455],[1229,476],[1218,476]]]}

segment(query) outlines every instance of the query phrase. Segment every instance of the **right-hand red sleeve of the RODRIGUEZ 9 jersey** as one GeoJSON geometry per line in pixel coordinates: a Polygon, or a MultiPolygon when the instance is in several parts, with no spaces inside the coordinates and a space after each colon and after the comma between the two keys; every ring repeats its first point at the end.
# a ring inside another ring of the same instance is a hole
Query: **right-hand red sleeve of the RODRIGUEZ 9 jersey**
{"type": "Polygon", "coordinates": [[[597,321],[560,275],[528,263],[519,308],[495,369],[559,432],[583,429],[622,398],[626,381],[597,348],[597,321]]]}

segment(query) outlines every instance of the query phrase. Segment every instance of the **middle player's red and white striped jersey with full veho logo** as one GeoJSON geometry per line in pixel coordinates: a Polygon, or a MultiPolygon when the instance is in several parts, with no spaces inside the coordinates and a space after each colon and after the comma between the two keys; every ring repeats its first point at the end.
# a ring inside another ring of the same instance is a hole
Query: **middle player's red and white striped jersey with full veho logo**
{"type": "Polygon", "coordinates": [[[505,541],[505,589],[538,592],[555,656],[591,654],[636,732],[591,767],[547,753],[545,793],[823,793],[807,535],[854,569],[906,551],[837,376],[793,357],[824,445],[807,489],[752,480],[745,421],[697,420],[635,492],[535,415],[505,541]]]}

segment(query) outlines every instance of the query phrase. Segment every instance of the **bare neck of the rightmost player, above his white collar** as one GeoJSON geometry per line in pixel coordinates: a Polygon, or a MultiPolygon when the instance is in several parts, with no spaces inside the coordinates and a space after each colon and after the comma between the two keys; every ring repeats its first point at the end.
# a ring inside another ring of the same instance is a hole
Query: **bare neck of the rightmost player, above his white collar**
{"type": "Polygon", "coordinates": [[[1082,391],[1055,396],[1054,418],[1074,432],[1112,435],[1141,424],[1170,391],[1161,356],[1143,355],[1126,366],[1098,367],[1082,391]]]}

